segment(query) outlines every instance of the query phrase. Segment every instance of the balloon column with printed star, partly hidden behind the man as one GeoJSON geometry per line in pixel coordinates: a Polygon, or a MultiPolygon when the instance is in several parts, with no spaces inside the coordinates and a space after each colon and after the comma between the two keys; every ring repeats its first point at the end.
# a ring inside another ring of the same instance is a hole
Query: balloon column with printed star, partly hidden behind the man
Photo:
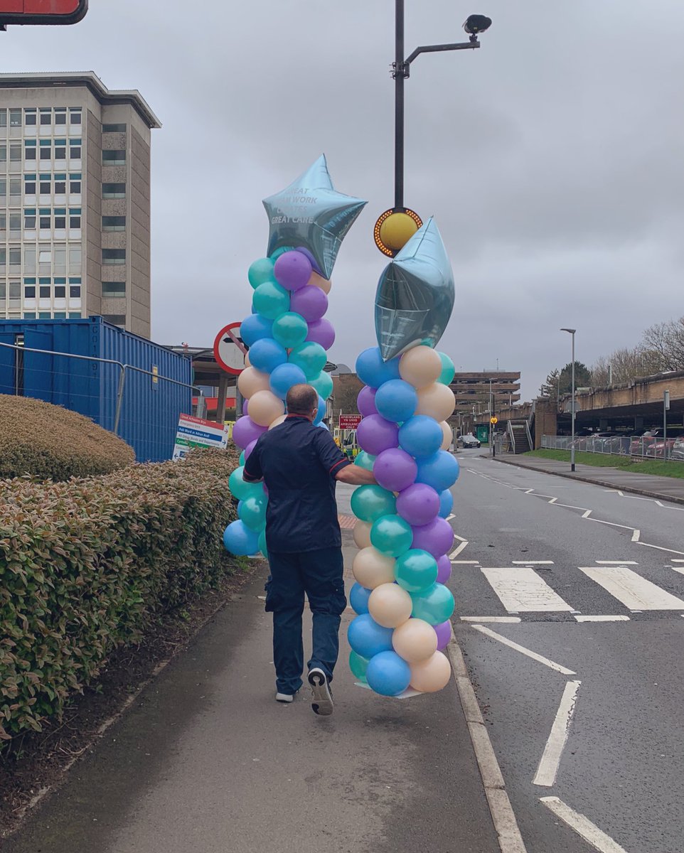
{"type": "Polygon", "coordinates": [[[236,555],[266,554],[268,494],[261,483],[242,479],[246,459],[258,437],[285,420],[285,397],[306,382],[318,392],[317,422],[333,380],[323,368],[333,345],[333,326],[325,319],[330,275],[342,240],[366,204],[335,192],[322,156],[281,193],[264,200],[269,216],[268,257],[249,268],[252,314],[241,323],[249,347],[248,366],[238,379],[245,398],[233,440],[241,448],[240,467],[229,479],[238,499],[239,520],[223,533],[225,548],[236,555]]]}

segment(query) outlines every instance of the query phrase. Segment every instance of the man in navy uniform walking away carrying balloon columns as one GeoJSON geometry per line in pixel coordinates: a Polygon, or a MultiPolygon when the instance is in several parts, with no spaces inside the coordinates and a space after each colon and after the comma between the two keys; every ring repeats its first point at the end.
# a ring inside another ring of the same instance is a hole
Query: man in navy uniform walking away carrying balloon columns
{"type": "Polygon", "coordinates": [[[248,483],[263,479],[269,492],[266,611],[273,613],[275,699],[292,702],[302,686],[306,593],[313,616],[311,707],[328,715],[333,713],[329,684],[339,654],[340,616],[347,603],[335,480],[368,485],[375,478],[347,459],[328,430],[314,427],[318,393],[313,387],[293,386],[286,402],[286,420],[258,439],[242,476],[248,483]]]}

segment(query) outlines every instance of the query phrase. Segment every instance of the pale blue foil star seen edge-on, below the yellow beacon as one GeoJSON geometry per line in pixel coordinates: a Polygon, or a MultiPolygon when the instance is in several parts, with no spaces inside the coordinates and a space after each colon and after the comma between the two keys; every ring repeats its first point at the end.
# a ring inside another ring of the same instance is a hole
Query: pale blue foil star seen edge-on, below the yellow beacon
{"type": "Polygon", "coordinates": [[[436,346],[454,308],[454,274],[432,217],[385,267],[375,293],[375,336],[383,359],[436,346]]]}

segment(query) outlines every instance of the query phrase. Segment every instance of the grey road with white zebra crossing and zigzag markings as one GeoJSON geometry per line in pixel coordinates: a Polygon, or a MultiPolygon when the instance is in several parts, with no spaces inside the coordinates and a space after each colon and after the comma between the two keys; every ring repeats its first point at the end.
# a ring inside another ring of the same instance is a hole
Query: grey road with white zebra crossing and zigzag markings
{"type": "Polygon", "coordinates": [[[459,459],[455,635],[526,850],[681,853],[684,507],[459,459]]]}

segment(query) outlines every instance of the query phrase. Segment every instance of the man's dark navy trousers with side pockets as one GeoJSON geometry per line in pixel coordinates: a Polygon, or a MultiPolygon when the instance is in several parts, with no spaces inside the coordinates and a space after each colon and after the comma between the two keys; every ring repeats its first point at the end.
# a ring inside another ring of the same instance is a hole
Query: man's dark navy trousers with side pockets
{"type": "Polygon", "coordinates": [[[340,616],[347,606],[342,549],[320,548],[301,554],[269,552],[266,611],[273,612],[273,663],[279,693],[302,686],[304,592],[313,615],[309,669],[320,666],[328,680],[339,654],[340,616]]]}

